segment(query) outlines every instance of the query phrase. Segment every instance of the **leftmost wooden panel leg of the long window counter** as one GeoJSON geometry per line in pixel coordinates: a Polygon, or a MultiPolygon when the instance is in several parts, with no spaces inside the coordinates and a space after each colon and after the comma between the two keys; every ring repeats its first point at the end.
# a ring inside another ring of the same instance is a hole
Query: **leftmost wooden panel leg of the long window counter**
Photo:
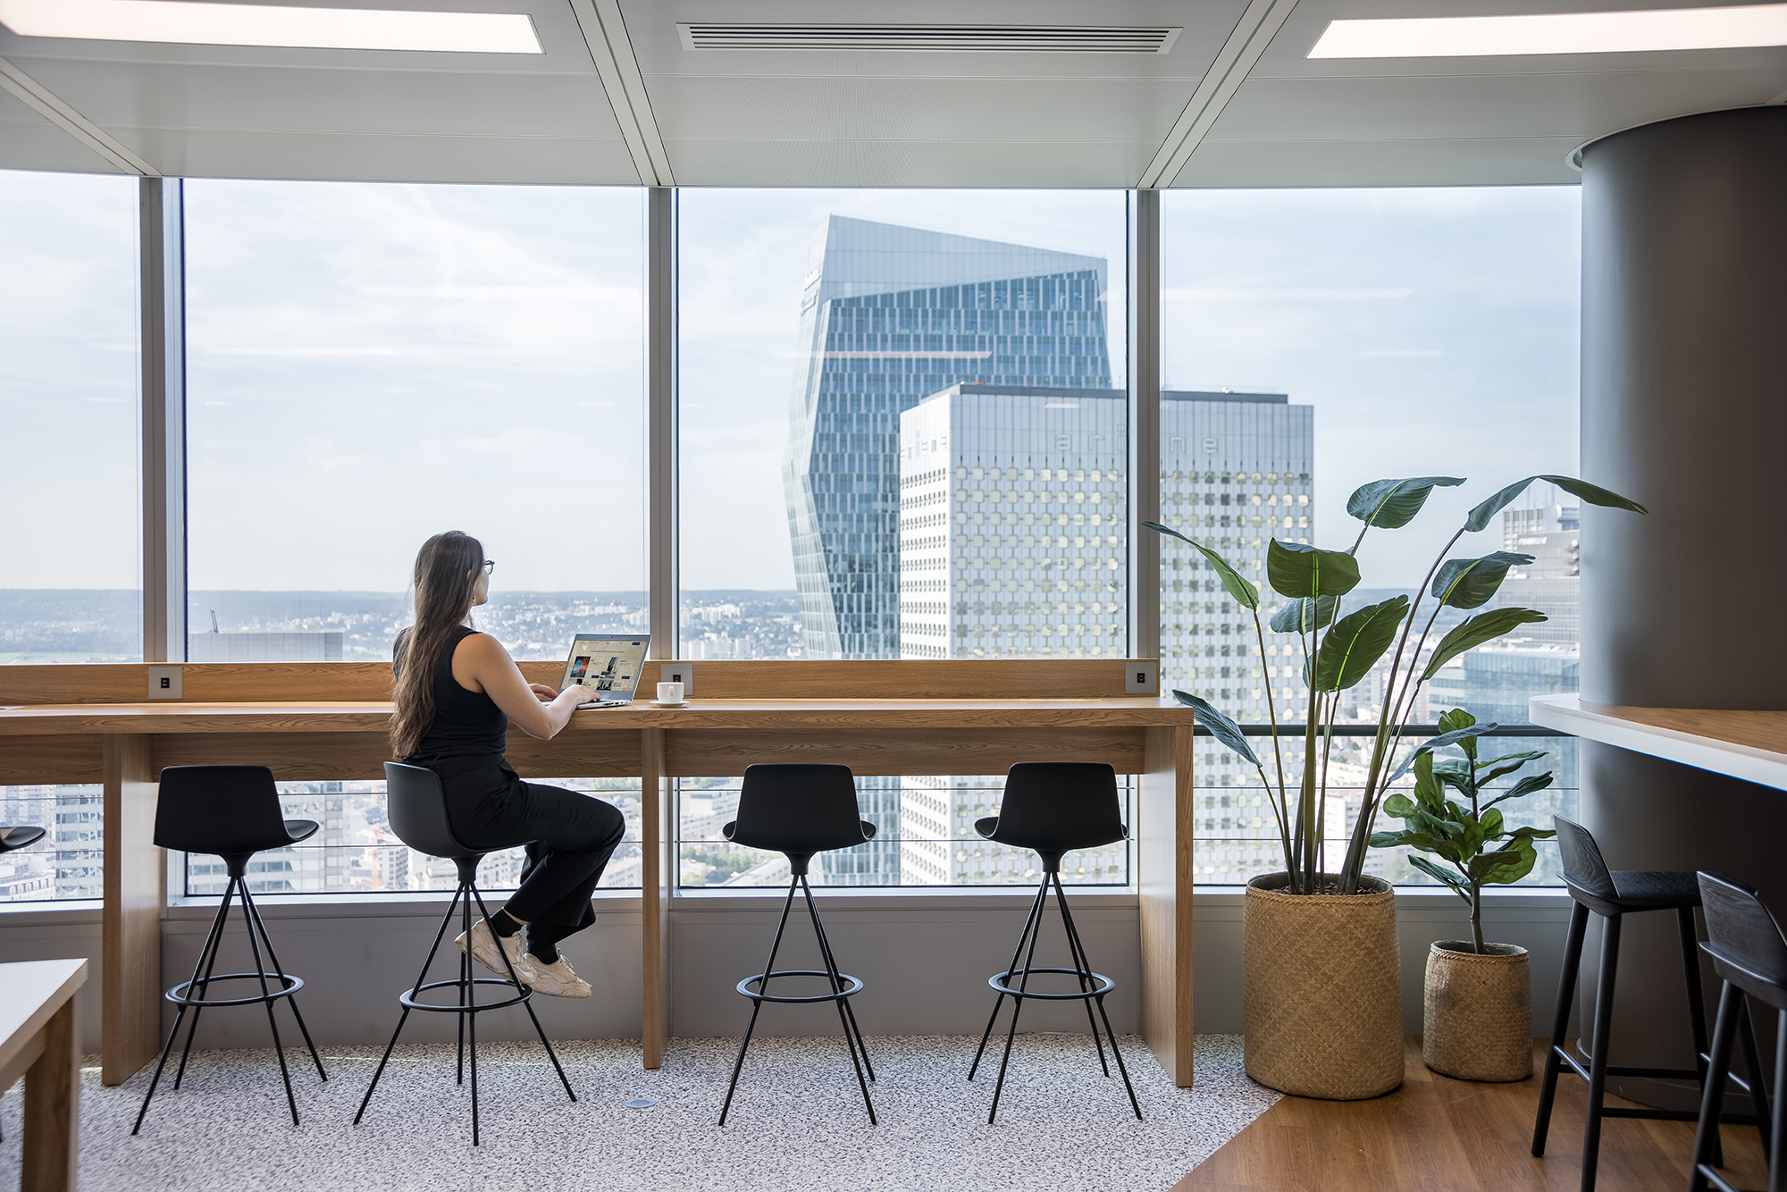
{"type": "Polygon", "coordinates": [[[102,1079],[122,1085],[161,1051],[161,910],[154,738],[107,733],[102,1079]]]}

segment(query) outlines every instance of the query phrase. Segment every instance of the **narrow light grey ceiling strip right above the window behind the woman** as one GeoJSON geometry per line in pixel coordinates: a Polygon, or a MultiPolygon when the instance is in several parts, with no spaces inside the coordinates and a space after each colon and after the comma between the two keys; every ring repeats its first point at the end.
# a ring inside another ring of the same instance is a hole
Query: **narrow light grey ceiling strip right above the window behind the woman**
{"type": "Polygon", "coordinates": [[[180,177],[638,186],[622,141],[109,127],[180,177]]]}

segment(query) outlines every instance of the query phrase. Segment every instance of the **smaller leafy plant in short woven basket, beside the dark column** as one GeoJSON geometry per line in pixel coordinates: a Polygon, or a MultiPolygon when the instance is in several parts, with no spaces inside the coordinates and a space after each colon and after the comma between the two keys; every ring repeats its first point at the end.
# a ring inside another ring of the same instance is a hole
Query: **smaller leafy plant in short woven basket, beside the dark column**
{"type": "Polygon", "coordinates": [[[1539,860],[1533,842],[1556,833],[1508,827],[1496,804],[1544,790],[1553,776],[1528,774],[1485,801],[1489,783],[1544,758],[1544,751],[1478,758],[1478,738],[1498,726],[1478,724],[1462,708],[1442,715],[1439,727],[1440,735],[1410,758],[1415,797],[1392,793],[1383,801],[1383,813],[1403,820],[1403,829],[1371,836],[1374,849],[1408,845],[1447,861],[1451,869],[1408,858],[1471,906],[1471,938],[1437,940],[1428,949],[1421,1058],[1435,1072],[1458,1079],[1526,1079],[1533,1074],[1533,986],[1526,949],[1483,942],[1483,886],[1533,872],[1539,860]],[[1464,758],[1435,761],[1435,751],[1444,747],[1458,749],[1464,758]],[[1447,799],[1446,786],[1458,792],[1458,799],[1447,799]]]}

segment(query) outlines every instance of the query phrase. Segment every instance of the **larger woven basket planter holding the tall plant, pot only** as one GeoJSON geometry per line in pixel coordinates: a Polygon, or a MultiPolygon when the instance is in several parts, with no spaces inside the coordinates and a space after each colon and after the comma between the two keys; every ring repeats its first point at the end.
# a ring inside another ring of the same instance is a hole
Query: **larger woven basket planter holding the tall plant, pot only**
{"type": "Polygon", "coordinates": [[[1396,894],[1283,894],[1285,874],[1247,883],[1247,1076],[1297,1097],[1362,1101],[1403,1083],[1396,894]]]}

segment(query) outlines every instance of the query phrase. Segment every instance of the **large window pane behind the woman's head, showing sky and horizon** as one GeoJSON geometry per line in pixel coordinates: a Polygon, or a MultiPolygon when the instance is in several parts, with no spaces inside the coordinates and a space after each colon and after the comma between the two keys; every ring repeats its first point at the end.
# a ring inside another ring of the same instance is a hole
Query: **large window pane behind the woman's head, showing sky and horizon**
{"type": "Polygon", "coordinates": [[[643,191],[186,184],[188,656],[377,661],[422,541],[518,659],[645,624],[643,191]]]}

